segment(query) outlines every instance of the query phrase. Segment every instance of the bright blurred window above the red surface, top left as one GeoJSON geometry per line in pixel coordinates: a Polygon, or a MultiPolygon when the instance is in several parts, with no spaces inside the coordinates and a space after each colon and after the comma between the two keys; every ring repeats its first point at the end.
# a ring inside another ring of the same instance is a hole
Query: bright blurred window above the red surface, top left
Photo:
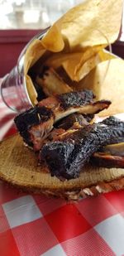
{"type": "Polygon", "coordinates": [[[83,0],[0,0],[0,29],[40,29],[83,0]]]}

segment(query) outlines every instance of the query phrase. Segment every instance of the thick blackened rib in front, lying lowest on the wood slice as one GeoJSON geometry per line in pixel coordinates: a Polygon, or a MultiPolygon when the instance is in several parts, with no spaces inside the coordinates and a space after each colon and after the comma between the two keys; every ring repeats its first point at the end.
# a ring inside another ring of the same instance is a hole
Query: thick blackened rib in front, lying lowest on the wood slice
{"type": "Polygon", "coordinates": [[[41,149],[52,176],[72,179],[81,170],[94,152],[100,147],[124,136],[124,122],[117,118],[107,118],[101,123],[93,123],[69,134],[63,141],[50,142],[41,149]]]}

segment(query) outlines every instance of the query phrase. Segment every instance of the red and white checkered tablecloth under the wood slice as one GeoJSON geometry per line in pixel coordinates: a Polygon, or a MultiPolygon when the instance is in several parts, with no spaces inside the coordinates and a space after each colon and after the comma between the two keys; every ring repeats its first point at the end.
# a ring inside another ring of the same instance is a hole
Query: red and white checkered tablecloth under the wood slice
{"type": "MultiPolygon", "coordinates": [[[[0,99],[0,138],[15,132],[0,99]]],[[[0,183],[0,256],[124,255],[124,191],[67,203],[0,183]]]]}

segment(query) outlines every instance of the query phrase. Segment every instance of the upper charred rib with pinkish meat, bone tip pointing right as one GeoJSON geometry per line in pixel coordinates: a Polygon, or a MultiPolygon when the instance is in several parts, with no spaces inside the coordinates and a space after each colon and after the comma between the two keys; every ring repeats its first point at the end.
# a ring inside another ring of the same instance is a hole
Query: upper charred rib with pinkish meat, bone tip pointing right
{"type": "Polygon", "coordinates": [[[42,143],[54,127],[54,123],[73,113],[95,114],[107,109],[110,101],[93,102],[90,90],[57,94],[41,100],[34,108],[15,118],[17,129],[29,146],[39,151],[42,143]]]}

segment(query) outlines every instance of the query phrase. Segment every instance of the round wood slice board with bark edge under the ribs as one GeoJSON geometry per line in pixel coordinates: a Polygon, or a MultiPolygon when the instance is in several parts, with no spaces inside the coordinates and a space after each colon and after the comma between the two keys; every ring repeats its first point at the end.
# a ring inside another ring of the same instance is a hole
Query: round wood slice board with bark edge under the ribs
{"type": "Polygon", "coordinates": [[[77,200],[101,192],[124,188],[124,169],[87,166],[79,178],[60,181],[45,166],[38,166],[36,154],[24,146],[19,134],[0,142],[0,179],[24,191],[77,200]]]}

